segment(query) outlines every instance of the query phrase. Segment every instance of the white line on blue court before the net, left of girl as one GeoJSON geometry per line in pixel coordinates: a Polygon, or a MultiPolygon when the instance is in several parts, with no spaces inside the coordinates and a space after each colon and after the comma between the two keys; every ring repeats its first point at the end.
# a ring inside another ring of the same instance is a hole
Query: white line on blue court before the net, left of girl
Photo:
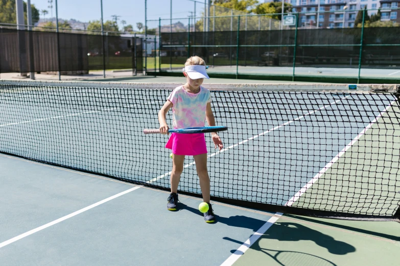
{"type": "Polygon", "coordinates": [[[69,214],[69,215],[66,215],[66,216],[64,216],[64,217],[61,217],[61,218],[59,218],[59,219],[57,219],[57,220],[54,220],[53,222],[50,222],[50,223],[47,223],[47,224],[45,224],[45,225],[39,226],[39,227],[37,227],[37,228],[35,228],[35,229],[32,229],[32,230],[30,230],[30,231],[28,231],[28,232],[26,232],[26,233],[17,235],[17,236],[15,236],[15,237],[11,238],[10,240],[7,240],[7,241],[5,241],[5,242],[0,243],[0,248],[3,248],[3,247],[5,247],[5,246],[7,246],[7,245],[10,245],[11,243],[14,243],[15,241],[21,240],[21,239],[24,238],[24,237],[27,237],[27,236],[29,236],[29,235],[31,235],[31,234],[34,234],[34,233],[36,233],[36,232],[38,232],[38,231],[40,231],[40,230],[43,230],[43,229],[45,229],[45,228],[48,228],[48,227],[52,226],[52,225],[58,224],[58,223],[60,223],[60,222],[62,222],[62,221],[64,221],[64,220],[66,220],[66,219],[69,219],[69,218],[71,218],[71,217],[74,217],[74,216],[76,216],[76,215],[79,215],[79,214],[81,214],[82,212],[84,212],[84,211],[86,211],[86,210],[89,210],[89,209],[91,209],[91,208],[97,207],[97,206],[99,206],[99,205],[101,205],[101,204],[103,204],[103,203],[106,203],[107,201],[110,201],[110,200],[112,200],[112,199],[115,199],[115,198],[117,198],[117,197],[120,197],[120,196],[122,196],[122,195],[125,195],[125,194],[127,194],[127,193],[129,193],[129,192],[131,192],[131,191],[137,190],[137,189],[139,189],[139,188],[141,188],[141,187],[134,187],[134,188],[131,188],[131,189],[129,189],[129,190],[123,191],[123,192],[121,192],[121,193],[115,194],[114,196],[108,197],[108,198],[106,198],[106,199],[104,199],[104,200],[101,200],[101,201],[96,202],[96,203],[94,203],[94,204],[91,204],[91,205],[89,205],[89,206],[87,206],[87,207],[84,207],[83,209],[77,210],[77,211],[73,212],[72,214],[69,214]]]}

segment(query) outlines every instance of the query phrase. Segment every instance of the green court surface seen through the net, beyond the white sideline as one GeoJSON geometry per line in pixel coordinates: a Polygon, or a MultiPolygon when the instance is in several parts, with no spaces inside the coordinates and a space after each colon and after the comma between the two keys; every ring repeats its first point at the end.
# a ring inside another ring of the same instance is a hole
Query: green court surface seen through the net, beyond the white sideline
{"type": "MultiPolygon", "coordinates": [[[[378,118],[379,123],[373,123],[357,141],[347,145],[348,149],[292,206],[331,204],[333,211],[370,207],[396,210],[399,207],[396,199],[400,198],[400,143],[397,141],[400,124],[393,123],[396,120],[393,114],[399,112],[398,105],[392,105],[378,118]],[[384,139],[383,135],[386,135],[384,139]],[[351,164],[356,159],[359,165],[351,164]],[[347,202],[338,201],[339,198],[347,202]]],[[[384,215],[383,212],[370,214],[384,215]]]]}

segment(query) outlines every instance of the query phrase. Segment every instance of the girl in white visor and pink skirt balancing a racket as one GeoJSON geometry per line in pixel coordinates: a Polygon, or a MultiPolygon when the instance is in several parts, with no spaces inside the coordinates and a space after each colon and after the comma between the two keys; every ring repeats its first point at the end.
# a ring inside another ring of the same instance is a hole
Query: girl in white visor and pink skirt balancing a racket
{"type": "MultiPolygon", "coordinates": [[[[179,86],[167,98],[160,112],[161,134],[168,134],[166,115],[172,108],[173,127],[203,127],[204,120],[209,126],[215,126],[213,111],[211,111],[210,91],[201,87],[204,78],[209,78],[205,71],[205,62],[200,57],[191,57],[186,60],[185,68],[182,69],[186,77],[186,84],[179,86]]],[[[216,132],[211,133],[215,148],[223,148],[222,141],[216,132]]],[[[193,155],[196,163],[196,170],[200,180],[203,201],[208,203],[208,211],[204,213],[204,220],[207,223],[215,222],[213,208],[210,202],[210,179],[207,172],[207,147],[204,134],[177,134],[172,133],[167,142],[166,148],[171,149],[172,172],[171,172],[171,194],[168,197],[167,209],[176,210],[178,202],[178,185],[180,175],[183,171],[185,155],[193,155]]]]}

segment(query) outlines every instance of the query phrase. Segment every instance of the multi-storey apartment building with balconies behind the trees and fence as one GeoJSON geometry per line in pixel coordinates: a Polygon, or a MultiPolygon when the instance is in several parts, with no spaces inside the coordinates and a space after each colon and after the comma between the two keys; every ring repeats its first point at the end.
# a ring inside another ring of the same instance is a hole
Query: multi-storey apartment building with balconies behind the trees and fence
{"type": "MultiPolygon", "coordinates": [[[[266,1],[269,2],[269,1],[266,1]]],[[[280,2],[280,1],[276,1],[280,2]]],[[[382,21],[400,23],[400,0],[285,0],[299,14],[299,26],[310,28],[352,28],[358,10],[368,10],[371,16],[381,9],[382,21]],[[318,6],[319,11],[318,12],[318,6]]]]}

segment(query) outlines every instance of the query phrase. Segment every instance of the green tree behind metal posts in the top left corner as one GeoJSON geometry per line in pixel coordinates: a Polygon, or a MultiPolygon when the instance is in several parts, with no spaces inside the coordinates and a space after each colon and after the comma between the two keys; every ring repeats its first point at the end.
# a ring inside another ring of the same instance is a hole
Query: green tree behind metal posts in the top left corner
{"type": "MultiPolygon", "coordinates": [[[[39,21],[39,10],[36,9],[35,5],[31,5],[32,11],[32,23],[35,24],[39,21]]],[[[24,23],[27,21],[27,3],[23,2],[23,16],[24,23]]],[[[0,22],[3,23],[17,23],[15,0],[0,0],[0,22]]]]}

